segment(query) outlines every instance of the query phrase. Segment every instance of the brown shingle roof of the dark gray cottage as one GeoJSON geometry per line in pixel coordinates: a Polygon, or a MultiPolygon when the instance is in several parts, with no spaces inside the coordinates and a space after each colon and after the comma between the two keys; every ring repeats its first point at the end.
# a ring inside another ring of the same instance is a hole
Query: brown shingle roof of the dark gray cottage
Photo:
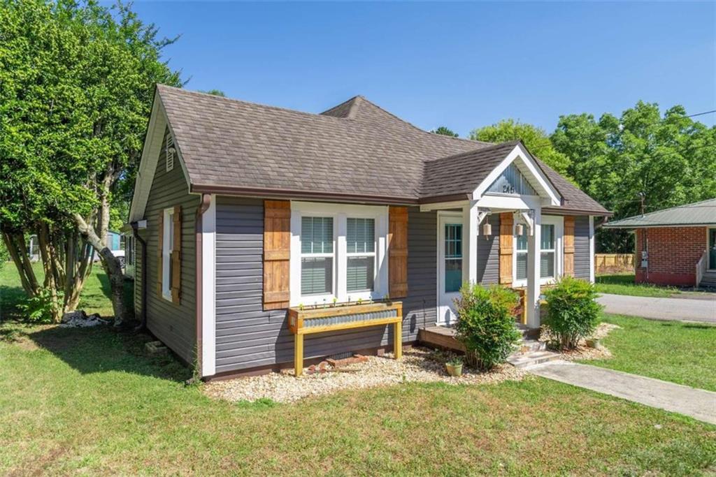
{"type": "MultiPolygon", "coordinates": [[[[456,180],[465,187],[474,183],[474,189],[489,164],[516,144],[425,132],[360,96],[310,114],[164,85],[157,90],[195,190],[417,202],[442,195],[456,180]],[[467,172],[457,174],[458,163],[469,165],[467,172]]],[[[566,192],[576,197],[575,204],[585,202],[586,195],[571,187],[574,191],[566,192]]]]}

